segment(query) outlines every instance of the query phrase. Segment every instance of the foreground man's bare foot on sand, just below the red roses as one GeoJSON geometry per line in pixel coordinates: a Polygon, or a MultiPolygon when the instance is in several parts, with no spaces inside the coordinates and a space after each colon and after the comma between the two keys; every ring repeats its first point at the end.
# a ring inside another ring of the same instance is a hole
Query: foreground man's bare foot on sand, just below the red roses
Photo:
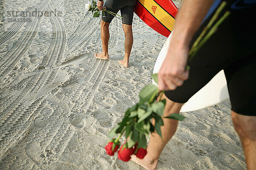
{"type": "Polygon", "coordinates": [[[149,161],[147,156],[143,159],[137,158],[135,155],[131,156],[131,161],[134,161],[136,164],[144,167],[146,170],[156,170],[157,169],[157,161],[149,161]]]}

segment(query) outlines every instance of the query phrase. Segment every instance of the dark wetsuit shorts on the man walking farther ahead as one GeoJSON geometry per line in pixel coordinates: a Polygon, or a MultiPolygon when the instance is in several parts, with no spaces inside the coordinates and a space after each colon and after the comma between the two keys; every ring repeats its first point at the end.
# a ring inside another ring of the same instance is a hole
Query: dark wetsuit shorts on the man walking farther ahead
{"type": "MultiPolygon", "coordinates": [[[[136,0],[106,0],[103,7],[106,7],[107,10],[117,14],[121,11],[122,23],[127,25],[132,25],[134,7],[136,6],[136,0]]],[[[105,15],[102,16],[102,20],[106,23],[111,23],[114,16],[108,12],[105,12],[105,15]]]]}

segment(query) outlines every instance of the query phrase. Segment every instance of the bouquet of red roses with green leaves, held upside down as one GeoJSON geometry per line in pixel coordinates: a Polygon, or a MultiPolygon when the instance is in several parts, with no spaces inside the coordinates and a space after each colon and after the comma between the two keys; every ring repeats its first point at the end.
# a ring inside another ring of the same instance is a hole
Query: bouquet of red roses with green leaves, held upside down
{"type": "MultiPolygon", "coordinates": [[[[230,14],[229,11],[226,11],[224,15],[216,22],[219,14],[225,6],[226,2],[224,1],[221,3],[207,26],[201,32],[198,39],[192,45],[192,48],[189,51],[189,61],[195,56],[198,49],[201,48],[205,42],[207,42],[209,37],[211,37],[212,34],[214,34],[214,32],[217,30],[218,26],[230,14]]],[[[187,66],[186,69],[189,69],[189,66],[187,66]]],[[[155,82],[158,82],[157,74],[152,74],[152,77],[155,82]]],[[[145,88],[140,91],[139,103],[131,108],[128,108],[122,121],[109,132],[108,136],[110,138],[118,135],[119,136],[116,139],[113,138],[108,141],[108,144],[105,147],[108,155],[113,156],[114,153],[119,149],[119,139],[125,133],[126,140],[118,151],[118,159],[122,161],[129,161],[131,159],[131,155],[133,154],[138,158],[143,159],[147,154],[146,137],[149,137],[150,133],[153,132],[156,132],[160,137],[162,137],[160,129],[160,127],[163,126],[162,118],[176,119],[180,121],[185,118],[178,113],[173,113],[167,117],[163,116],[163,111],[166,104],[166,99],[161,100],[161,95],[163,93],[163,91],[158,90],[157,86],[152,84],[146,85],[145,88]],[[151,123],[151,119],[155,120],[154,125],[151,123]]]]}

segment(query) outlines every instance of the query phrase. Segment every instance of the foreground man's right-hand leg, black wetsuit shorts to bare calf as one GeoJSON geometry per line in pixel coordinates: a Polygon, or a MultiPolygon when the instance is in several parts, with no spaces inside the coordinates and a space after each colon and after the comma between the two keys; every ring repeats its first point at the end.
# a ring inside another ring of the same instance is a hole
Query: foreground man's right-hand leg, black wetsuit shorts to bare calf
{"type": "Polygon", "coordinates": [[[231,117],[244,149],[248,170],[256,170],[256,53],[224,69],[232,105],[231,117]]]}

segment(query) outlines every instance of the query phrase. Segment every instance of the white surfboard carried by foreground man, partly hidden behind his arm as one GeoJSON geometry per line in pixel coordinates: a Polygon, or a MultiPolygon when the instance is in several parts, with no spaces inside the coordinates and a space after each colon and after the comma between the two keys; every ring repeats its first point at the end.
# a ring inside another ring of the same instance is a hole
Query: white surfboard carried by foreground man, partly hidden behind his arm
{"type": "MultiPolygon", "coordinates": [[[[169,48],[169,42],[172,38],[172,33],[167,38],[163,48],[161,49],[157,61],[154,65],[153,74],[158,73],[160,70],[164,59],[166,58],[166,54],[169,48]]],[[[154,85],[157,83],[152,80],[154,85]]],[[[180,112],[188,112],[188,111],[196,111],[202,108],[207,108],[212,105],[216,105],[220,102],[224,102],[229,100],[229,94],[227,89],[227,81],[224,74],[224,71],[221,70],[218,74],[215,75],[211,79],[210,82],[207,83],[200,91],[198,91],[194,96],[192,96],[188,102],[186,102],[180,112]]]]}

